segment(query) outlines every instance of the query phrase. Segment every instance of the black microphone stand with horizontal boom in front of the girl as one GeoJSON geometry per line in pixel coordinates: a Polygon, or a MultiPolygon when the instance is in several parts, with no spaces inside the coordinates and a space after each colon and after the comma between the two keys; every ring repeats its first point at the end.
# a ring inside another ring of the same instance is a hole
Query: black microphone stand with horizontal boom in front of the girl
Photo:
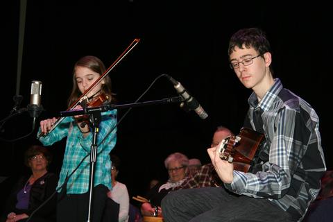
{"type": "MultiPolygon", "coordinates": [[[[89,122],[93,128],[93,136],[92,136],[92,146],[90,149],[90,171],[89,171],[89,205],[88,205],[88,219],[87,222],[91,221],[92,215],[92,200],[93,196],[93,188],[94,188],[94,168],[96,164],[96,156],[97,156],[97,135],[99,133],[99,123],[101,123],[101,112],[106,112],[108,110],[121,109],[121,108],[134,108],[144,105],[155,105],[160,103],[180,103],[183,99],[181,96],[175,96],[167,99],[160,99],[155,101],[145,101],[139,103],[128,103],[123,105],[101,105],[92,108],[84,108],[78,110],[69,110],[60,112],[60,117],[71,117],[76,115],[89,114],[89,122]]],[[[106,194],[105,194],[106,195],[106,194]]]]}

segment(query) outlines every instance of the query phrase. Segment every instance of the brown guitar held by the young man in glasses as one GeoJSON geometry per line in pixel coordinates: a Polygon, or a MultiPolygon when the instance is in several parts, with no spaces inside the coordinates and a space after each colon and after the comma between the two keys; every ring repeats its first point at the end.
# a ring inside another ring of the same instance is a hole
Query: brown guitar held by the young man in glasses
{"type": "Polygon", "coordinates": [[[239,135],[223,139],[218,152],[222,160],[234,164],[234,170],[247,173],[263,139],[262,133],[244,127],[239,135]]]}

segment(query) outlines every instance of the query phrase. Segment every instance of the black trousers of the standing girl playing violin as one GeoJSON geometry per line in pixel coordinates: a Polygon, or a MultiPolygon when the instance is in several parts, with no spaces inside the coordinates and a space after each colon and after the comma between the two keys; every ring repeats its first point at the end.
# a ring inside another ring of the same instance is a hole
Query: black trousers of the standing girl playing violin
{"type": "MultiPolygon", "coordinates": [[[[66,186],[65,186],[66,187],[66,186]]],[[[108,188],[104,185],[97,185],[93,189],[92,214],[90,221],[100,222],[105,201],[108,196],[108,188]]],[[[58,195],[57,221],[59,222],[84,222],[88,219],[89,191],[85,194],[66,194],[66,190],[58,195]]]]}

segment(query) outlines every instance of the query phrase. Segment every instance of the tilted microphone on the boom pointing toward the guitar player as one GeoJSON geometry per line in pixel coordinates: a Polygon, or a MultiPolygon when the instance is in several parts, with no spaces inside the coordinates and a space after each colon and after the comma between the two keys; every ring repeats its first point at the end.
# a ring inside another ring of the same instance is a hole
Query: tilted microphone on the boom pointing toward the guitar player
{"type": "MultiPolygon", "coordinates": [[[[169,76],[167,74],[165,74],[165,75],[170,80],[170,82],[173,84],[173,87],[175,87],[177,93],[180,96],[182,96],[182,99],[184,100],[183,103],[185,102],[185,104],[187,105],[189,110],[194,110],[201,119],[206,119],[208,117],[208,114],[207,114],[207,112],[205,112],[205,110],[203,110],[203,108],[198,103],[198,101],[196,101],[196,99],[194,99],[194,97],[191,96],[189,94],[189,92],[187,92],[187,90],[177,80],[175,80],[174,78],[172,78],[171,76],[169,76]]],[[[182,106],[182,104],[180,104],[180,105],[182,106]]]]}

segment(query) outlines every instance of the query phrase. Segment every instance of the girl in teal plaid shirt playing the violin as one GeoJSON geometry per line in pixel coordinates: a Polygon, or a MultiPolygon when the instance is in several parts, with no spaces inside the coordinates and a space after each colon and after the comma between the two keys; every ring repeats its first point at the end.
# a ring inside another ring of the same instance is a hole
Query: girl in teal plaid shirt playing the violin
{"type": "MultiPolygon", "coordinates": [[[[99,58],[95,56],[80,58],[74,65],[73,89],[68,99],[69,107],[71,107],[71,104],[77,101],[104,72],[105,66],[99,58]]],[[[108,102],[114,100],[109,76],[105,76],[85,97],[87,97],[87,99],[94,99],[96,96],[101,95],[105,96],[108,102]]],[[[73,109],[80,108],[82,108],[81,105],[76,105],[73,109]]],[[[39,134],[47,133],[44,137],[39,138],[44,146],[51,146],[62,138],[67,137],[65,155],[57,187],[59,192],[57,206],[58,221],[85,221],[88,216],[89,154],[93,133],[89,124],[82,123],[82,119],[84,119],[82,116],[65,117],[53,130],[51,130],[51,128],[57,121],[56,118],[40,121],[39,134]],[[78,167],[82,160],[83,163],[78,167]],[[78,169],[71,175],[76,167],[78,167],[78,169]],[[71,176],[69,177],[69,175],[71,176]],[[65,180],[68,181],[65,182],[65,180]]],[[[117,110],[101,113],[101,122],[99,123],[99,133],[97,134],[96,141],[98,147],[94,168],[94,196],[92,200],[94,213],[92,214],[92,221],[101,221],[107,198],[105,194],[109,189],[112,189],[109,153],[116,144],[116,124],[117,110]],[[112,130],[111,133],[110,130],[112,130]]]]}

